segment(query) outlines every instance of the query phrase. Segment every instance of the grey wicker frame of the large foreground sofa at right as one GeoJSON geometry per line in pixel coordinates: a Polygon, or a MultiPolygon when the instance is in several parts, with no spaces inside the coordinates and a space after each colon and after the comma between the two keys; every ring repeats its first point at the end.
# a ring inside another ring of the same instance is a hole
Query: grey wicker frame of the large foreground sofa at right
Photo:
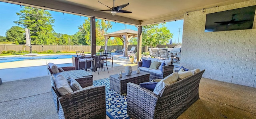
{"type": "Polygon", "coordinates": [[[127,113],[132,119],[175,119],[199,99],[198,87],[205,70],[166,86],[158,96],[127,83],[127,113]]]}

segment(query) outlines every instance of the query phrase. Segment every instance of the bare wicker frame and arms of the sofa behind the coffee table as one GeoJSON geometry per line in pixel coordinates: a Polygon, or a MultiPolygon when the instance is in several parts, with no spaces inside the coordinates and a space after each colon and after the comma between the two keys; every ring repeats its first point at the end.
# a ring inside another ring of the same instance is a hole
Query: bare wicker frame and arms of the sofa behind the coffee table
{"type": "MultiPolygon", "coordinates": [[[[142,61],[138,62],[138,69],[139,67],[142,66],[142,61]]],[[[149,72],[149,71],[146,71],[146,70],[141,70],[140,71],[143,71],[143,72],[148,72],[150,73],[150,78],[149,80],[152,81],[154,79],[163,79],[165,78],[166,76],[172,74],[173,72],[173,68],[174,68],[174,65],[165,65],[162,67],[162,74],[157,74],[157,73],[154,73],[154,72],[149,72]]]]}

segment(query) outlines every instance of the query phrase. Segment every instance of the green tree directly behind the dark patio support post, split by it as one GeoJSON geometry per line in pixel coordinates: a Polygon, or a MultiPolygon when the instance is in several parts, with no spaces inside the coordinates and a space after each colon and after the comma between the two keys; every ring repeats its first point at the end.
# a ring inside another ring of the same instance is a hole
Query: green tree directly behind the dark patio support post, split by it
{"type": "MultiPolygon", "coordinates": [[[[105,44],[104,34],[108,29],[112,28],[110,21],[96,20],[96,45],[103,46],[105,44]]],[[[78,42],[82,45],[90,45],[90,18],[84,20],[84,23],[78,27],[79,31],[82,32],[84,39],[79,39],[78,42]],[[81,41],[82,40],[82,41],[81,41]]]]}

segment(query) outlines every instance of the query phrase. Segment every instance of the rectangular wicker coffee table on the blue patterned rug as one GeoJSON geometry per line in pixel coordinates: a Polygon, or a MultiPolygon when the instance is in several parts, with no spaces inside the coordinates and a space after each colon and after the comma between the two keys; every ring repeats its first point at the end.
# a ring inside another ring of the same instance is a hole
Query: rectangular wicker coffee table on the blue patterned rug
{"type": "Polygon", "coordinates": [[[149,82],[150,73],[140,71],[139,74],[133,71],[130,76],[126,76],[122,73],[122,78],[118,78],[118,74],[110,75],[109,85],[110,88],[119,94],[124,94],[127,92],[127,83],[131,82],[134,84],[140,84],[142,82],[149,82]]]}

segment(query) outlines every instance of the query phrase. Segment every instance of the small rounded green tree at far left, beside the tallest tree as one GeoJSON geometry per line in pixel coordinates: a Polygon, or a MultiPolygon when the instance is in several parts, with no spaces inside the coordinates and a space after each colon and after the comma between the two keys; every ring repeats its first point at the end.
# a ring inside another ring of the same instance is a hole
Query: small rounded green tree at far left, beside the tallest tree
{"type": "Polygon", "coordinates": [[[6,31],[6,41],[12,42],[14,44],[25,44],[25,29],[19,26],[12,26],[6,31]]]}

